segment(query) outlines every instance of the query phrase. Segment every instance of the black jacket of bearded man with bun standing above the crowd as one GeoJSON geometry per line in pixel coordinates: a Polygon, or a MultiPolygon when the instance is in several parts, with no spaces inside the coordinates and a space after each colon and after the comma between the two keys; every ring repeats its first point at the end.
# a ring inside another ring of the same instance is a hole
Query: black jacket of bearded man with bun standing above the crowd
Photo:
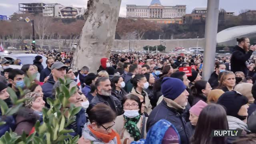
{"type": "Polygon", "coordinates": [[[231,71],[232,72],[244,72],[244,75],[247,76],[248,68],[246,66],[246,61],[252,56],[253,51],[249,50],[245,52],[244,49],[239,46],[235,46],[232,56],[231,56],[231,71]]]}

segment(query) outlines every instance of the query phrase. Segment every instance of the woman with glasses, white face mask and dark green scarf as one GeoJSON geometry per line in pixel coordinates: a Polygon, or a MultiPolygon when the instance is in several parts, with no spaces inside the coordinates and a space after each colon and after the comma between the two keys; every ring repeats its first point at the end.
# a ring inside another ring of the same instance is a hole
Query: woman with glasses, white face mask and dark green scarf
{"type": "Polygon", "coordinates": [[[117,116],[114,130],[120,135],[122,144],[130,144],[132,141],[146,138],[147,117],[142,115],[140,98],[135,94],[128,94],[123,101],[124,114],[117,116]]]}

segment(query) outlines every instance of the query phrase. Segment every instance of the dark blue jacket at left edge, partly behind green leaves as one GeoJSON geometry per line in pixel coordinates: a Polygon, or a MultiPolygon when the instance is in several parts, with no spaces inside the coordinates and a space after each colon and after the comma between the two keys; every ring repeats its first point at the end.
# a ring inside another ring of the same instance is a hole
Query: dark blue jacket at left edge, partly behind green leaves
{"type": "Polygon", "coordinates": [[[10,128],[12,129],[12,131],[14,131],[15,126],[16,126],[14,117],[13,116],[7,116],[7,117],[4,118],[2,116],[2,112],[1,112],[1,109],[0,109],[0,122],[2,122],[2,121],[6,122],[6,124],[0,126],[0,137],[2,135],[4,135],[4,133],[6,131],[9,132],[10,128]]]}

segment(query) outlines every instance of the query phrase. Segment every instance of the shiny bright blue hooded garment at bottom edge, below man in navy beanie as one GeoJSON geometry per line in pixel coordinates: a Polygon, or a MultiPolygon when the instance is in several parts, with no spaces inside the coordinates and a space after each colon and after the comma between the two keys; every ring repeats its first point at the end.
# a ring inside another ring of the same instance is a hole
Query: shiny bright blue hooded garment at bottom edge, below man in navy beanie
{"type": "Polygon", "coordinates": [[[156,124],[154,124],[154,126],[152,126],[152,128],[150,128],[146,139],[141,139],[137,142],[134,141],[131,144],[162,144],[164,135],[169,128],[172,128],[174,132],[176,132],[175,135],[169,137],[172,139],[178,139],[180,144],[180,135],[178,131],[173,124],[165,119],[159,120],[158,122],[156,122],[156,124]]]}

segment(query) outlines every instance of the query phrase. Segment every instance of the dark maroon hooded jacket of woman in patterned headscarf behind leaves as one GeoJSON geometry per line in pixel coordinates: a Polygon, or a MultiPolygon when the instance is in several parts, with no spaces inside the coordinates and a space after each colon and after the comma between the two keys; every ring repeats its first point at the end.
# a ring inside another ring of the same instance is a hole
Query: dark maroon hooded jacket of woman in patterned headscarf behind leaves
{"type": "Polygon", "coordinates": [[[21,108],[16,115],[16,132],[18,135],[22,135],[23,131],[28,135],[36,121],[40,119],[40,116],[34,113],[34,110],[30,108],[21,108]]]}

